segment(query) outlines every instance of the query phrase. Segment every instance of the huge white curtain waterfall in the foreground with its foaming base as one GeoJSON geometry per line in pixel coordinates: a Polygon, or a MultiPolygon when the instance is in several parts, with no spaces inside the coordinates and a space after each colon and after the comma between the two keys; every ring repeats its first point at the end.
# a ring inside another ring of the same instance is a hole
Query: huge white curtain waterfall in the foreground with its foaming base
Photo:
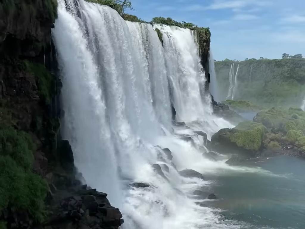
{"type": "Polygon", "coordinates": [[[194,31],[128,22],[108,6],[83,0],[58,4],[52,36],[63,81],[62,135],[86,183],[120,207],[122,228],[231,228],[189,198],[209,182],[177,171],[228,168],[203,157],[204,138],[193,130],[210,139],[233,127],[212,114],[194,31]],[[190,128],[172,124],[172,104],[177,120],[190,128]],[[150,187],[137,189],[133,182],[150,187]]]}

